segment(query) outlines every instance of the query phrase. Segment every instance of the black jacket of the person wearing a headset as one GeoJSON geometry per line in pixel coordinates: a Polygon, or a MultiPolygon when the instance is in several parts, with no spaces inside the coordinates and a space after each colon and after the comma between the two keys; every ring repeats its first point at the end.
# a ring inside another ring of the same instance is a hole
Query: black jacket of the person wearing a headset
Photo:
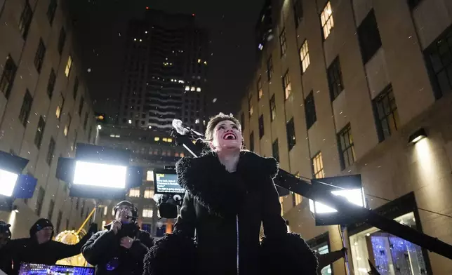
{"type": "Polygon", "coordinates": [[[149,233],[140,230],[137,224],[122,224],[118,234],[114,234],[110,226],[111,224],[108,224],[106,230],[94,234],[81,248],[86,261],[95,266],[96,275],[141,275],[143,258],[147,250],[154,245],[154,240],[149,233]],[[119,245],[124,236],[135,239],[130,249],[119,245]],[[115,257],[117,268],[108,270],[107,264],[114,266],[115,257]]]}

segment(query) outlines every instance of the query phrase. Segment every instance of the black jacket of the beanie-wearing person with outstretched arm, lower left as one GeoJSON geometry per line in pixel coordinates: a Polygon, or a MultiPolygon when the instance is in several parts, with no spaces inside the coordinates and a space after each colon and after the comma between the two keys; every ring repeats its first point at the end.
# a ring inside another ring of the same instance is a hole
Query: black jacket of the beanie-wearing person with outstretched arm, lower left
{"type": "Polygon", "coordinates": [[[48,241],[39,244],[35,238],[14,239],[1,248],[0,254],[7,255],[9,262],[13,261],[13,271],[8,275],[18,274],[21,262],[34,264],[55,264],[58,260],[80,254],[81,247],[91,235],[86,234],[77,244],[69,245],[58,241],[48,241]]]}

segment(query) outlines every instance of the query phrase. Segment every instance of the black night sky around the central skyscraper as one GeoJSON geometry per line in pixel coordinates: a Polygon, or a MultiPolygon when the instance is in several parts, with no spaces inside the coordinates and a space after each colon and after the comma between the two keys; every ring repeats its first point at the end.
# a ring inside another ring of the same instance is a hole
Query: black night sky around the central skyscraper
{"type": "Polygon", "coordinates": [[[131,18],[145,7],[194,13],[211,36],[208,112],[236,114],[255,67],[254,27],[264,0],[69,0],[95,111],[112,114],[119,94],[122,47],[131,18]],[[213,99],[217,100],[213,103],[213,99]]]}

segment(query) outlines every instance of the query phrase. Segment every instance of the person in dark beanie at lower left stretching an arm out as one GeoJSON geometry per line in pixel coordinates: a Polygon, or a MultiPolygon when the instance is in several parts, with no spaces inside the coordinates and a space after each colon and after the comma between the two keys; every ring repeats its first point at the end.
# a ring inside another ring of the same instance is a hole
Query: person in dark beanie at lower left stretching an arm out
{"type": "MultiPolygon", "coordinates": [[[[97,224],[91,224],[88,233],[74,245],[53,241],[53,224],[50,220],[41,218],[29,229],[29,238],[14,239],[0,250],[2,255],[8,255],[13,260],[13,271],[18,274],[20,263],[55,264],[58,260],[72,257],[80,253],[81,246],[97,232],[97,224]]],[[[8,275],[11,275],[8,274],[8,275]]]]}

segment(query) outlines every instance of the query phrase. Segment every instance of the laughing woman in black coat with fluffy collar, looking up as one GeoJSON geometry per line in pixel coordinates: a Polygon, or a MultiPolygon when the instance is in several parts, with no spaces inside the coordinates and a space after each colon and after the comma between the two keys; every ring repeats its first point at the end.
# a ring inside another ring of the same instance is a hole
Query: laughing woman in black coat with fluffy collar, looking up
{"type": "Polygon", "coordinates": [[[206,130],[211,151],[178,161],[180,215],[173,234],[149,250],[145,275],[316,274],[314,252],[281,217],[277,161],[242,150],[242,140],[239,121],[218,114],[206,130]]]}

